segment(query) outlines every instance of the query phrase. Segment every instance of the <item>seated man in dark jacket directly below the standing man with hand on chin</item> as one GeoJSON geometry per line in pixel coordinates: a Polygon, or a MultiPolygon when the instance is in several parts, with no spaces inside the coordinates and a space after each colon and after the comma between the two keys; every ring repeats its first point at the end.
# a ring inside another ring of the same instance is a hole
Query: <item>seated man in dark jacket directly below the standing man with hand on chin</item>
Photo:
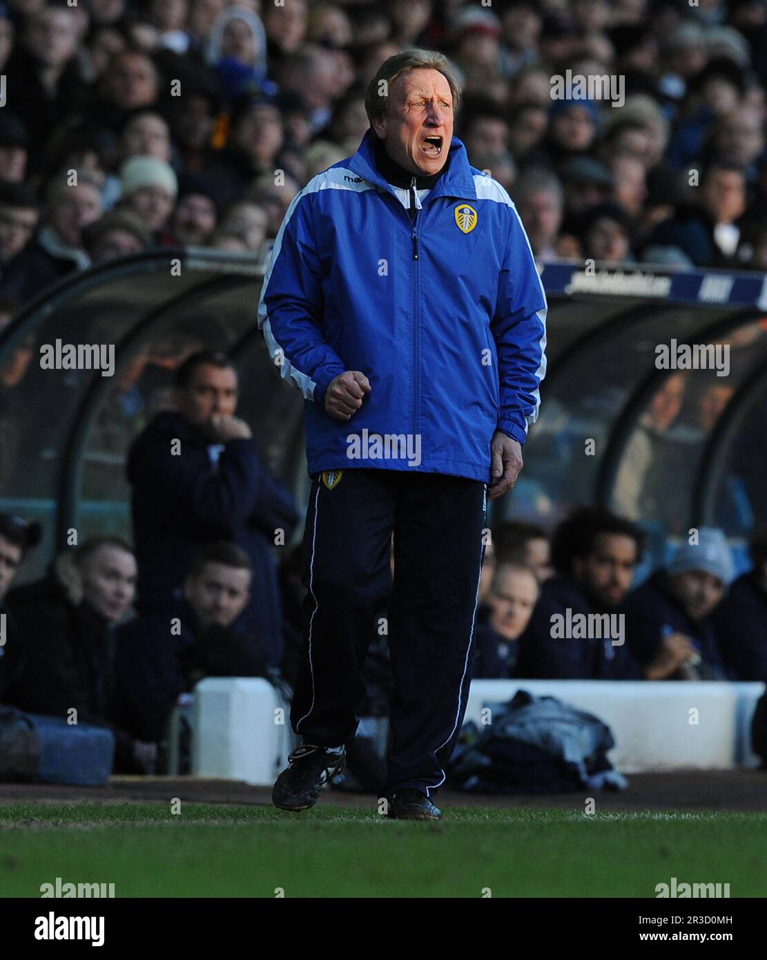
{"type": "Polygon", "coordinates": [[[212,543],[186,577],[180,602],[117,631],[110,712],[115,723],[158,742],[179,694],[204,677],[264,676],[265,653],[232,629],[250,599],[251,580],[244,550],[212,543]]]}

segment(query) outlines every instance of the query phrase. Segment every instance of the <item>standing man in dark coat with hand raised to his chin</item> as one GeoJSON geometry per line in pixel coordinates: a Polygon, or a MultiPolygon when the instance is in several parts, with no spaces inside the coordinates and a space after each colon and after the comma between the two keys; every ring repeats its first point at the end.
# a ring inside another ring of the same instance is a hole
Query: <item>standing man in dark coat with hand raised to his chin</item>
{"type": "Polygon", "coordinates": [[[234,416],[238,384],[228,358],[196,353],[176,373],[178,412],[161,413],[134,441],[128,461],[139,566],[140,613],[179,598],[194,558],[232,540],[251,558],[252,590],[240,626],[282,657],[274,545],[297,522],[293,496],[261,466],[251,429],[234,416]]]}

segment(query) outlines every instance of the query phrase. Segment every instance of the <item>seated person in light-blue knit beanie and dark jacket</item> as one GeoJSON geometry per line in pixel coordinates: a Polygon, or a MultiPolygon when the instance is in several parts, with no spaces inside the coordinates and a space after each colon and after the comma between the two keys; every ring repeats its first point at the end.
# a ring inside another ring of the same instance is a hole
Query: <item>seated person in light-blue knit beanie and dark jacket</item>
{"type": "Polygon", "coordinates": [[[696,542],[684,542],[666,569],[657,570],[627,598],[629,645],[648,664],[663,642],[686,644],[669,680],[724,680],[725,672],[709,614],[732,577],[730,547],[721,530],[699,527],[696,542]]]}

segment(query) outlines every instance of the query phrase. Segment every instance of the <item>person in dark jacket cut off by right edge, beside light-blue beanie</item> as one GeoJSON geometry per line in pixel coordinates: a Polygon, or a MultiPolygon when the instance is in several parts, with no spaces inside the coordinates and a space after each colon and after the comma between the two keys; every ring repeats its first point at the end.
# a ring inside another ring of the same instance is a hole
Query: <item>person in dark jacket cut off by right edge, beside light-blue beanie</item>
{"type": "Polygon", "coordinates": [[[711,614],[719,651],[733,680],[767,681],[767,530],[749,543],[754,568],[731,585],[711,614]]]}

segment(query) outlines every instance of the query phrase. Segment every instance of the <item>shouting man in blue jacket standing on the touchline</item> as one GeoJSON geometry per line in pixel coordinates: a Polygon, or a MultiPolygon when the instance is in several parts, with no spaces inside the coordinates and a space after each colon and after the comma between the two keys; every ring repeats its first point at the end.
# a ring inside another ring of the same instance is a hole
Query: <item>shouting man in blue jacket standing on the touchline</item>
{"type": "Polygon", "coordinates": [[[312,477],[291,715],[303,743],[276,780],[281,809],[312,806],[343,769],[385,631],[381,808],[441,816],[430,795],[467,705],[487,499],[515,483],[545,372],[533,254],[509,195],[453,136],[460,95],[441,54],[386,60],[370,130],[293,200],[264,279],[258,323],[306,400],[312,477]]]}

